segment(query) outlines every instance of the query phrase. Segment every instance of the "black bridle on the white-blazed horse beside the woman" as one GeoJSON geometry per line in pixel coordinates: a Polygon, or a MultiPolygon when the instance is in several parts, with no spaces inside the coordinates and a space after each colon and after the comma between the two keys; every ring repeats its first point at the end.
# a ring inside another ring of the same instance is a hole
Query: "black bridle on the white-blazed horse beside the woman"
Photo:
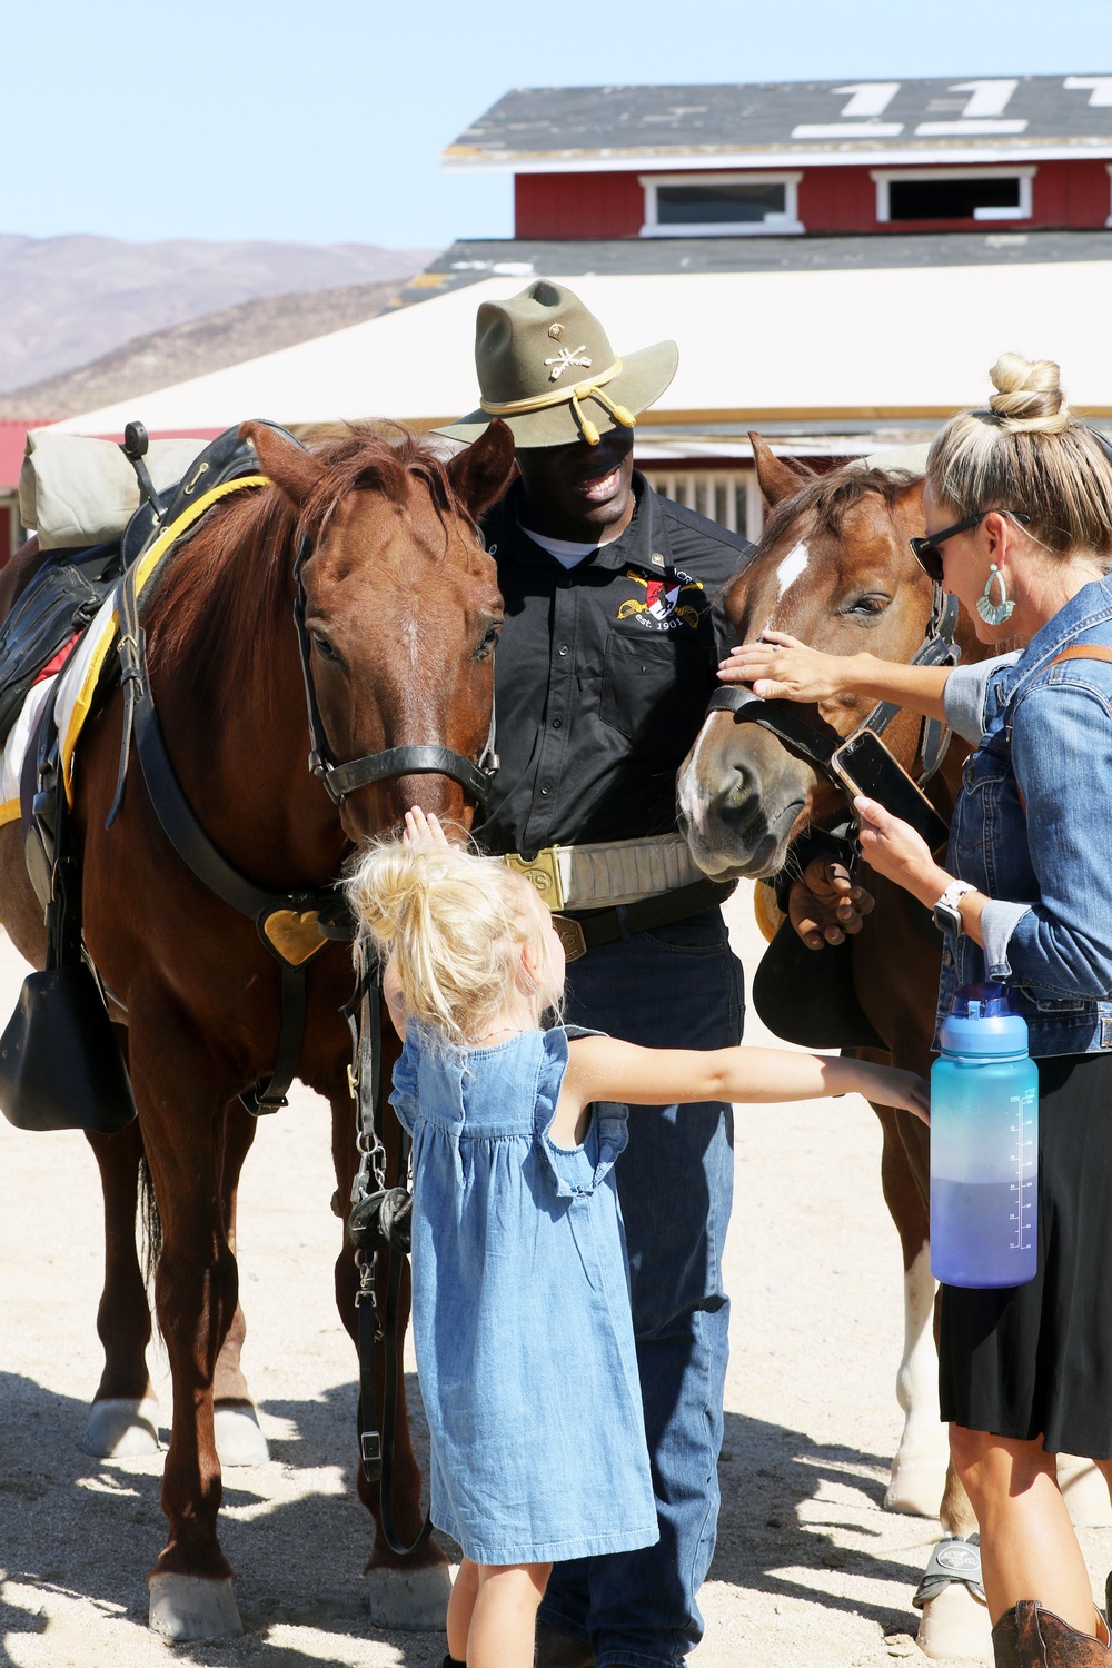
{"type": "MultiPolygon", "coordinates": [[[[954,642],[955,629],[957,597],[945,592],[942,585],[935,585],[927,634],[907,664],[957,666],[962,651],[954,642]]],[[[899,711],[900,707],[895,701],[879,701],[854,734],[872,731],[874,736],[882,736],[899,711]]],[[[805,764],[820,771],[844,794],[847,802],[852,804],[845,784],[830,769],[834,749],[840,747],[847,737],[840,736],[832,724],[827,724],[819,712],[810,714],[792,701],[765,701],[744,684],[722,684],[720,689],[715,689],[707,702],[707,717],[712,712],[732,712],[735,724],[759,724],[760,729],[775,736],[797,759],[804,759],[805,764]]],[[[922,764],[919,774],[920,787],[940,767],[949,744],[950,732],[947,726],[940,719],[924,719],[919,744],[922,764]]]]}

